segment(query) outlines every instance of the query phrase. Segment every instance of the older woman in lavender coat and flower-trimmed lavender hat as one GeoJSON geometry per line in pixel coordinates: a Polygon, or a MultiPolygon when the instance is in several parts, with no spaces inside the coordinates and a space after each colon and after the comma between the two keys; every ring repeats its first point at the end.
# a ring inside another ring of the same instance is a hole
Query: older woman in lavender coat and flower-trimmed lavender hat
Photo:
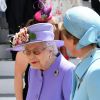
{"type": "Polygon", "coordinates": [[[38,23],[16,33],[12,50],[23,51],[30,64],[26,100],[69,100],[74,65],[58,48],[63,41],[54,40],[53,26],[38,23]]]}

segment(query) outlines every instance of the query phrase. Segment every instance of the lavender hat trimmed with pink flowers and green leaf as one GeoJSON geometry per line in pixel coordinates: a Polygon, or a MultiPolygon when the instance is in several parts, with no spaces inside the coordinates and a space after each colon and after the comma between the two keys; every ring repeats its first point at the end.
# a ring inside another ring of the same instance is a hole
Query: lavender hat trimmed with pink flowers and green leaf
{"type": "Polygon", "coordinates": [[[24,29],[26,31],[16,33],[12,41],[14,46],[8,50],[22,51],[26,43],[43,41],[54,41],[58,48],[64,45],[64,41],[54,40],[53,25],[50,23],[38,23],[24,29]]]}

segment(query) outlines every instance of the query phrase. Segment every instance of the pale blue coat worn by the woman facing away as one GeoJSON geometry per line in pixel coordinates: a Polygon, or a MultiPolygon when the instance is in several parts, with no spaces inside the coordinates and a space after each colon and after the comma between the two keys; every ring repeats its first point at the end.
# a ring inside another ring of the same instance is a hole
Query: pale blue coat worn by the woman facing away
{"type": "Polygon", "coordinates": [[[71,100],[100,100],[100,49],[76,67],[71,100]]]}

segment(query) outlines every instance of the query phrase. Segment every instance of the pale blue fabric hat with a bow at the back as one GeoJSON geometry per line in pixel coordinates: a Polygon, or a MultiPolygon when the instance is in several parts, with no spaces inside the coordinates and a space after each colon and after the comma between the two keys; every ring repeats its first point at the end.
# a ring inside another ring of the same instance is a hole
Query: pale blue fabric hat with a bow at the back
{"type": "Polygon", "coordinates": [[[88,7],[77,6],[66,11],[64,27],[79,39],[77,49],[95,43],[100,46],[100,16],[88,7]]]}

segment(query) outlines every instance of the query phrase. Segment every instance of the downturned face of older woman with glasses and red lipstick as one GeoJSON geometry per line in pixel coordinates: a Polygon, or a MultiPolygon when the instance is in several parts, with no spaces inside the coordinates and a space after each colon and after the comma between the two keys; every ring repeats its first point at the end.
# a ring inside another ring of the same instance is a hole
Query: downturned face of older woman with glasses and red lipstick
{"type": "Polygon", "coordinates": [[[51,51],[43,42],[30,43],[25,45],[23,51],[32,68],[46,70],[49,65],[51,51]]]}

